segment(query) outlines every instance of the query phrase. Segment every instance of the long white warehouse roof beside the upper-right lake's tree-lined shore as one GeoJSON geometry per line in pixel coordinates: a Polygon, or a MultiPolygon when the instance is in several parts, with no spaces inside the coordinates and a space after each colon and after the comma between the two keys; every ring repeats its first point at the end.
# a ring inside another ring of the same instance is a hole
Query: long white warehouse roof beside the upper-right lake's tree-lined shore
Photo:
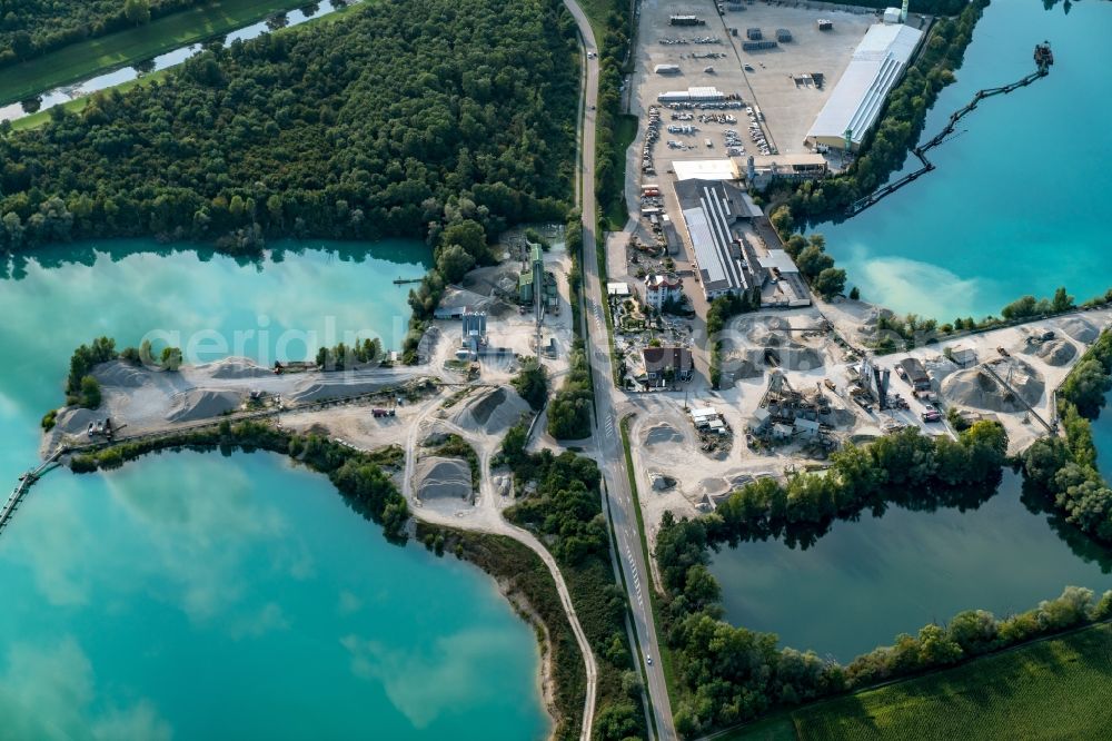
{"type": "Polygon", "coordinates": [[[871,26],[807,138],[844,138],[850,129],[853,144],[861,144],[922,38],[923,32],[910,26],[871,26]]]}

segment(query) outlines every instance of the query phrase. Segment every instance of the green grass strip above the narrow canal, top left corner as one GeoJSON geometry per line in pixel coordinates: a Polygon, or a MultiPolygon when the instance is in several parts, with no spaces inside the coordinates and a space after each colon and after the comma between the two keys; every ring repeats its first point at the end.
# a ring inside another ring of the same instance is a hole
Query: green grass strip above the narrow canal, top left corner
{"type": "Polygon", "coordinates": [[[217,0],[0,70],[0,105],[234,31],[305,0],[217,0]]]}

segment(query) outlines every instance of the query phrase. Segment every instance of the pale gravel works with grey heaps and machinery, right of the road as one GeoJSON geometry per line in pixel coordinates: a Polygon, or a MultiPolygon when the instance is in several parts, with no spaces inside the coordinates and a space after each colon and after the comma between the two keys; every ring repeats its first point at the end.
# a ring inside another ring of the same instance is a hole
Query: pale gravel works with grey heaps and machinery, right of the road
{"type": "Polygon", "coordinates": [[[638,397],[631,443],[646,522],[711,510],[756,477],[822,468],[848,443],[909,426],[955,435],[954,417],[1000,422],[1015,454],[1059,434],[1055,391],[1112,326],[1112,310],[1079,312],[866,356],[854,346],[875,310],[841,302],[735,317],[721,391],[696,381],[638,397]]]}

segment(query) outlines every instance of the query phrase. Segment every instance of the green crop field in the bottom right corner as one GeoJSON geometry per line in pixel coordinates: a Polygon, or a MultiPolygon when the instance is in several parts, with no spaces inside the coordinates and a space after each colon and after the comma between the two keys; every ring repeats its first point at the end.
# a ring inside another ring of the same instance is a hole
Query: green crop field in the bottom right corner
{"type": "Polygon", "coordinates": [[[801,708],[718,741],[1096,739],[1112,729],[1112,625],[801,708]]]}

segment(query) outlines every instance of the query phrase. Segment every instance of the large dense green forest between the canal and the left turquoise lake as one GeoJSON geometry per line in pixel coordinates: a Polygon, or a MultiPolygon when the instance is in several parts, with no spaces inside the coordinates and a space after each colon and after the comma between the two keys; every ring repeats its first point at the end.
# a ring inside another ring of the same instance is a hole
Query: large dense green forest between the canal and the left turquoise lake
{"type": "Polygon", "coordinates": [[[0,128],[0,248],[420,235],[481,259],[508,223],[566,211],[577,83],[556,0],[387,0],[214,45],[160,83],[0,128]]]}

